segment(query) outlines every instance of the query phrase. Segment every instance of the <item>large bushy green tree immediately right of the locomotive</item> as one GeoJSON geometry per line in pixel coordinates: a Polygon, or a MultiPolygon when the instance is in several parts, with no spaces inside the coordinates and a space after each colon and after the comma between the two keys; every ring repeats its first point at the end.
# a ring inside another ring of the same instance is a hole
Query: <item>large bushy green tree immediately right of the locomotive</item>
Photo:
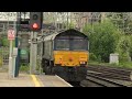
{"type": "Polygon", "coordinates": [[[109,55],[116,52],[120,32],[110,20],[102,23],[87,24],[84,33],[89,36],[89,52],[102,62],[109,62],[109,55]]]}

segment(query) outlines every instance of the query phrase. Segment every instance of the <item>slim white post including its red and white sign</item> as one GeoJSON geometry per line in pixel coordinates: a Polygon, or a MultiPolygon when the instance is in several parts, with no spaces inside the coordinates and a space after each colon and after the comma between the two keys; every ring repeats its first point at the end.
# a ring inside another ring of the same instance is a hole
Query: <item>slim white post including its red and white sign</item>
{"type": "Polygon", "coordinates": [[[8,40],[10,41],[10,55],[9,55],[9,78],[13,77],[13,61],[12,61],[12,47],[13,47],[13,40],[14,40],[14,30],[8,31],[8,40]]]}

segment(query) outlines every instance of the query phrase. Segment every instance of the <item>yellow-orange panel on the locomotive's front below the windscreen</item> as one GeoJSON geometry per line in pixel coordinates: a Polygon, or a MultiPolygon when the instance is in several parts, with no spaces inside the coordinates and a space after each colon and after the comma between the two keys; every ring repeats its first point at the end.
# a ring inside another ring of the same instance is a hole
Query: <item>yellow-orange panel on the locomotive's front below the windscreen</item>
{"type": "Polygon", "coordinates": [[[80,66],[87,65],[88,52],[54,51],[54,65],[80,66]]]}

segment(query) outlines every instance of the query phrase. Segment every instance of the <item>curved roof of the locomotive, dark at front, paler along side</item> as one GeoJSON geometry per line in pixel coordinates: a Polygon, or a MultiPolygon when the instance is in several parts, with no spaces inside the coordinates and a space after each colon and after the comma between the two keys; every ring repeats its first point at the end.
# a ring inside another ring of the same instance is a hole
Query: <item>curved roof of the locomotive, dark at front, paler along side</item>
{"type": "Polygon", "coordinates": [[[78,36],[84,36],[84,37],[87,37],[84,33],[77,31],[77,30],[74,30],[74,29],[69,29],[69,30],[66,30],[64,32],[56,32],[56,33],[53,33],[51,35],[47,35],[44,37],[44,41],[48,41],[48,40],[54,40],[56,36],[66,36],[66,35],[78,35],[78,36]]]}

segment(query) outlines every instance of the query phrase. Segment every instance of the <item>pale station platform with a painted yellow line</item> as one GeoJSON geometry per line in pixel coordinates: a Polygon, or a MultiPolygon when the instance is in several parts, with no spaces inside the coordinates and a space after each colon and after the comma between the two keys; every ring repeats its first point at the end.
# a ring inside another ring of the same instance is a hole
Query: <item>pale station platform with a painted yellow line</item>
{"type": "Polygon", "coordinates": [[[19,74],[9,78],[8,73],[0,73],[0,87],[73,87],[58,76],[19,74]]]}

